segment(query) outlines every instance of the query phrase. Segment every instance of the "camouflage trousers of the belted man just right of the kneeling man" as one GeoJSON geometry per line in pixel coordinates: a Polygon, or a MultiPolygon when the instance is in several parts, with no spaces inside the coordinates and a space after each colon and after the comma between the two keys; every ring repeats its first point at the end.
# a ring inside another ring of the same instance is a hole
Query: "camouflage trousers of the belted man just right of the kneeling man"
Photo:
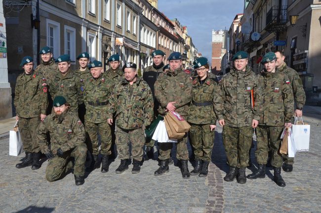
{"type": "Polygon", "coordinates": [[[112,132],[107,121],[103,123],[92,123],[85,120],[85,129],[88,134],[88,149],[93,155],[98,155],[98,134],[100,135],[102,155],[110,155],[112,147],[112,132]]]}

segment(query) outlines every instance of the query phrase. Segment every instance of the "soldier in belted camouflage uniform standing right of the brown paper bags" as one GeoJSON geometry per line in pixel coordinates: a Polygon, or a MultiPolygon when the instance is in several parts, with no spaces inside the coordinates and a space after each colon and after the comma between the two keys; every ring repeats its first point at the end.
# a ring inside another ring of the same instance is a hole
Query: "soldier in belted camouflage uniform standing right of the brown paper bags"
{"type": "Polygon", "coordinates": [[[190,142],[195,155],[195,167],[191,175],[199,174],[200,177],[206,177],[214,145],[216,127],[214,108],[220,103],[220,96],[218,81],[207,75],[209,70],[207,58],[196,59],[194,68],[199,75],[193,78],[192,102],[187,119],[191,124],[190,142]]]}

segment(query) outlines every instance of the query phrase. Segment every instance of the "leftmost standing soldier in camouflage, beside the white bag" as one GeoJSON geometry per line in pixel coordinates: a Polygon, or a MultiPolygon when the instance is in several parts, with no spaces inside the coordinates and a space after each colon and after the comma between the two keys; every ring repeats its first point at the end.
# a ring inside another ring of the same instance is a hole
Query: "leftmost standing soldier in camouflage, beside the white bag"
{"type": "Polygon", "coordinates": [[[47,87],[42,85],[45,83],[45,78],[33,70],[32,57],[25,56],[20,66],[24,72],[16,81],[14,106],[26,158],[16,164],[16,167],[24,168],[32,164],[32,169],[39,169],[40,148],[34,136],[40,121],[46,117],[47,87]]]}

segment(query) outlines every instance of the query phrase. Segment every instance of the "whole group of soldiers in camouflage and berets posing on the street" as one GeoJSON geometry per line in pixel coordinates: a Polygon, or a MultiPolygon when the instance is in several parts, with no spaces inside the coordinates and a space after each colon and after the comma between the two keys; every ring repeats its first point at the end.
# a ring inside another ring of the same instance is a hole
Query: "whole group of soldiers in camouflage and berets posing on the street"
{"type": "MultiPolygon", "coordinates": [[[[86,169],[101,166],[101,172],[108,172],[111,159],[118,155],[116,173],[127,170],[130,159],[131,172],[139,173],[144,146],[148,156],[154,155],[155,141],[145,137],[145,129],[156,117],[176,111],[191,124],[189,133],[176,143],[183,178],[207,176],[218,120],[230,166],[224,180],[236,177],[239,183],[246,182],[245,167],[255,131],[259,165],[247,178],[265,177],[271,153],[274,181],[285,186],[281,166],[292,171],[293,159],[283,156],[283,163],[280,136],[284,126],[291,126],[294,106],[295,116],[302,116],[305,93],[282,52],[267,53],[262,59],[265,68],[258,75],[247,66],[248,54],[238,52],[233,57],[234,68],[220,82],[208,72],[204,57],[194,61],[196,76],[186,74],[178,52],[171,53],[165,65],[165,54],[154,51],[153,65],[145,68],[142,78],[135,63],[127,62],[121,68],[118,54],[108,59],[110,68],[106,71],[101,61],[90,61],[88,53],[77,57],[80,67],[75,71],[67,54],[54,60],[49,47],[39,54],[41,64],[35,70],[32,57],[22,59],[24,72],[16,82],[14,106],[26,154],[17,168],[31,165],[39,169],[42,153],[48,159],[48,181],[63,178],[73,169],[76,185],[82,185],[86,169]],[[195,156],[191,172],[188,139],[195,156]],[[89,156],[91,163],[85,168],[89,156]]],[[[172,143],[158,146],[160,166],[154,174],[162,175],[172,162],[172,143]]]]}

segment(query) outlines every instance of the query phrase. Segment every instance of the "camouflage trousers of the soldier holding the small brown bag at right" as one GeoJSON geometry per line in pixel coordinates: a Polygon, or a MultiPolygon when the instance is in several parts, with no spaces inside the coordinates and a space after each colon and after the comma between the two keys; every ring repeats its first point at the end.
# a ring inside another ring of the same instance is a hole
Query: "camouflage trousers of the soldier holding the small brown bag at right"
{"type": "Polygon", "coordinates": [[[271,150],[271,165],[281,167],[283,164],[280,154],[281,133],[284,126],[263,126],[256,127],[256,144],[255,151],[256,161],[258,164],[266,164],[268,161],[268,153],[271,150]]]}

